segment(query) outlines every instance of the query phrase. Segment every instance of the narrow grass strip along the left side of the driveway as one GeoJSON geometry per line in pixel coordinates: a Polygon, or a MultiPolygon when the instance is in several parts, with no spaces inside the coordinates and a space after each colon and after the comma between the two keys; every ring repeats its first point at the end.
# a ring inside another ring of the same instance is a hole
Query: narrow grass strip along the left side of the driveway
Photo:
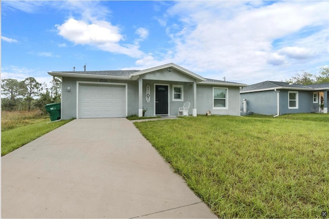
{"type": "Polygon", "coordinates": [[[1,156],[22,147],[30,141],[33,141],[34,139],[39,138],[54,129],[57,129],[71,120],[47,123],[47,121],[49,121],[48,118],[44,119],[42,122],[1,132],[1,156]]]}

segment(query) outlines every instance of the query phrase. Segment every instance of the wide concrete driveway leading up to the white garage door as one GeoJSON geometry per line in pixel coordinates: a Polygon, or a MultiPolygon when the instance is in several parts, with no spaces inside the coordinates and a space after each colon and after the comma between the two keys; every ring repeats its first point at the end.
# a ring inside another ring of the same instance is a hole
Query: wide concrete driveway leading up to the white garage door
{"type": "Polygon", "coordinates": [[[73,120],[1,163],[2,218],[216,218],[125,118],[73,120]]]}

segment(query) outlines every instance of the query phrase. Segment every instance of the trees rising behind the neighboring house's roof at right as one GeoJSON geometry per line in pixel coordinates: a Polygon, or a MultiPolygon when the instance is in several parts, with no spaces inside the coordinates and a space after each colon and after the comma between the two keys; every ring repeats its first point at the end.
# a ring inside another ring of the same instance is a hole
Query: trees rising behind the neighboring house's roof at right
{"type": "Polygon", "coordinates": [[[293,78],[286,80],[286,82],[304,85],[329,83],[329,67],[320,67],[319,75],[313,75],[306,71],[303,71],[301,74],[297,73],[293,78]]]}

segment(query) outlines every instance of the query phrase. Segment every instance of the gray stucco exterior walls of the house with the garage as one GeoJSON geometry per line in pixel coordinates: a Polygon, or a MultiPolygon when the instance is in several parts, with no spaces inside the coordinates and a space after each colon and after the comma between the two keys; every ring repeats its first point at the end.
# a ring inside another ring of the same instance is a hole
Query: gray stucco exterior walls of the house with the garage
{"type": "MultiPolygon", "coordinates": [[[[155,115],[155,85],[168,85],[169,97],[169,115],[177,116],[178,108],[182,107],[186,101],[191,103],[189,108],[189,115],[193,113],[194,106],[194,90],[193,84],[197,79],[186,75],[180,71],[161,69],[150,72],[148,74],[140,75],[137,81],[131,80],[110,80],[102,83],[100,79],[92,78],[62,78],[62,118],[78,118],[77,109],[79,108],[79,87],[80,84],[86,82],[88,84],[111,85],[123,84],[127,90],[127,116],[138,115],[139,113],[139,81],[142,81],[142,108],[147,109],[145,116],[155,115]],[[150,85],[150,102],[146,101],[146,86],[150,85]],[[183,87],[183,99],[173,100],[173,85],[181,85],[183,87]],[[70,87],[68,92],[66,89],[70,87]]],[[[208,110],[214,115],[233,115],[240,116],[240,88],[237,86],[218,86],[218,85],[202,85],[196,84],[196,109],[197,114],[206,114],[208,110]],[[227,109],[213,109],[213,87],[228,88],[228,108],[227,109]]]]}

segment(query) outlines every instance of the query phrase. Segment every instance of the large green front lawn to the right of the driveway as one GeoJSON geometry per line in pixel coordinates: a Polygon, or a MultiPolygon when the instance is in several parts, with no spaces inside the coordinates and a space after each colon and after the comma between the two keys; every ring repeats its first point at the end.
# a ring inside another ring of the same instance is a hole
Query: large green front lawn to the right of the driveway
{"type": "Polygon", "coordinates": [[[328,114],[134,124],[218,217],[329,212],[328,114]]]}

